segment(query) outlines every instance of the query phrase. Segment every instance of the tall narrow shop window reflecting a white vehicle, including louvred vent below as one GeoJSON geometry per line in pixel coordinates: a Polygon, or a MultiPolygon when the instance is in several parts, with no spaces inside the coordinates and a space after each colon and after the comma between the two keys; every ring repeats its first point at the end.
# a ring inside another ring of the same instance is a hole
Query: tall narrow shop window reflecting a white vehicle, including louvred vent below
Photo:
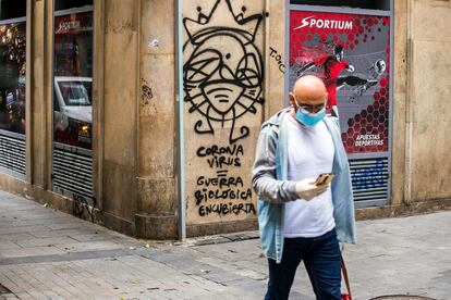
{"type": "Polygon", "coordinates": [[[56,0],[53,35],[53,190],[95,205],[93,0],[56,0]]]}

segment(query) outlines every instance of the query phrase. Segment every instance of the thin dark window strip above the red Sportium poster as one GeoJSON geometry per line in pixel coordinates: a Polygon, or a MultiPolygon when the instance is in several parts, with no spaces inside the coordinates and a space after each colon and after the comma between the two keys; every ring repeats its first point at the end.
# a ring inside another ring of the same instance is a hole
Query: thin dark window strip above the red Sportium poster
{"type": "Polygon", "coordinates": [[[345,7],[367,10],[390,10],[390,0],[290,0],[291,4],[324,5],[324,7],[345,7]]]}

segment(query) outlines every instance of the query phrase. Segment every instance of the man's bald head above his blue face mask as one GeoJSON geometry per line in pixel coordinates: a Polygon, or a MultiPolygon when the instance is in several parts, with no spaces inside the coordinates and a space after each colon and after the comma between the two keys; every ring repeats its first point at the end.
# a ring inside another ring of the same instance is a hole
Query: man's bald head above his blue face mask
{"type": "MultiPolygon", "coordinates": [[[[297,100],[297,104],[316,105],[324,103],[327,97],[326,86],[316,76],[307,75],[298,78],[290,93],[290,102],[297,100]]],[[[291,103],[293,104],[293,103],[291,103]]]]}

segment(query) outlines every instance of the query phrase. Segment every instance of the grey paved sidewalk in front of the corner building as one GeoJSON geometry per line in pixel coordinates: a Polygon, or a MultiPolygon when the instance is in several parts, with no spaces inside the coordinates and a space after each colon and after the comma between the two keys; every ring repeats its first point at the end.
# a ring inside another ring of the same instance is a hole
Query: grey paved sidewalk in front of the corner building
{"type": "MultiPolygon", "coordinates": [[[[354,299],[451,299],[451,212],[357,223],[354,299]]],[[[257,233],[146,242],[0,191],[0,299],[263,299],[257,233]]],[[[315,299],[300,267],[290,299],[315,299]]]]}

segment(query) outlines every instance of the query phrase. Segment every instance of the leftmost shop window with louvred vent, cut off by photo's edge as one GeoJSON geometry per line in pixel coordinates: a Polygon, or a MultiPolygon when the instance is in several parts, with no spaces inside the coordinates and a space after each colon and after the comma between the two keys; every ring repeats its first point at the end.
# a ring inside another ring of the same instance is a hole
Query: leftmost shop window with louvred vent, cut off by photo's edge
{"type": "Polygon", "coordinates": [[[0,1],[0,167],[25,175],[26,1],[0,1]]]}

